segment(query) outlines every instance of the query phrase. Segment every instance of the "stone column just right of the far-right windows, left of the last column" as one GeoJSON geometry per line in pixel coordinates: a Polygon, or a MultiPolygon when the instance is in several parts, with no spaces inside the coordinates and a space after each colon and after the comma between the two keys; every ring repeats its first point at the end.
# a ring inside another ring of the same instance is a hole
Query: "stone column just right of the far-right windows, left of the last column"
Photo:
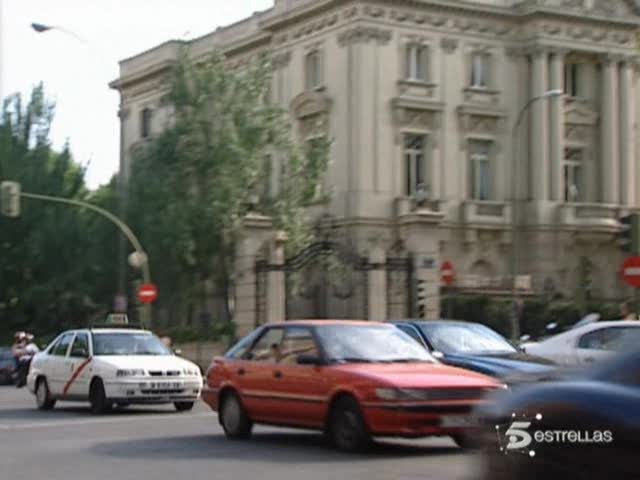
{"type": "Polygon", "coordinates": [[[619,159],[618,159],[618,64],[606,55],[602,59],[602,112],[600,122],[600,175],[604,203],[618,203],[619,159]]]}

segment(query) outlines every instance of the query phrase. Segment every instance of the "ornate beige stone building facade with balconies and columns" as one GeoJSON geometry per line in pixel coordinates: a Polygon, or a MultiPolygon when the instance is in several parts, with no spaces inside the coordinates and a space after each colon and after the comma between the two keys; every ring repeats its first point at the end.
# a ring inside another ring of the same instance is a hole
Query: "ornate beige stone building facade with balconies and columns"
{"type": "MultiPolygon", "coordinates": [[[[463,291],[509,292],[515,273],[528,294],[630,294],[616,235],[640,208],[639,15],[627,0],[276,0],[189,46],[232,66],[272,55],[271,101],[301,141],[333,141],[318,215],[372,264],[410,255],[436,316],[445,260],[463,291]]],[[[170,119],[182,45],[121,62],[125,176],[170,119]]],[[[369,317],[386,318],[387,277],[368,275],[369,317]]]]}

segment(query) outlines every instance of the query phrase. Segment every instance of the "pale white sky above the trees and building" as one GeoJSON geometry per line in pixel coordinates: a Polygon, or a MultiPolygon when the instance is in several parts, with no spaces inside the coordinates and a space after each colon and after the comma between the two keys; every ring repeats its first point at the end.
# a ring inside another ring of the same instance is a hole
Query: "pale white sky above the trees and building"
{"type": "Polygon", "coordinates": [[[273,0],[0,0],[0,95],[43,82],[56,103],[54,147],[69,142],[90,188],[119,164],[118,61],[169,39],[198,37],[273,0]],[[58,27],[45,33],[32,22],[58,27]]]}

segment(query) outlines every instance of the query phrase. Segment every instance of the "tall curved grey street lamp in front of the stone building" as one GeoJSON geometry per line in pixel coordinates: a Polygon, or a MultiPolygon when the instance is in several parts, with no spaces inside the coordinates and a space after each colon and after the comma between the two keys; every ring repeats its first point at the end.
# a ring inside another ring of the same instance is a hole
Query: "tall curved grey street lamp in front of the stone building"
{"type": "Polygon", "coordinates": [[[518,273],[518,181],[520,175],[520,158],[518,153],[518,133],[520,125],[524,120],[525,114],[529,108],[539,100],[547,100],[549,98],[557,98],[564,95],[564,91],[561,89],[548,90],[542,95],[531,98],[520,110],[516,123],[513,126],[511,132],[511,144],[513,145],[513,170],[511,177],[511,277],[512,277],[512,290],[511,296],[513,299],[513,308],[511,312],[511,337],[513,340],[517,340],[520,336],[520,304],[517,299],[518,288],[516,284],[516,275],[518,273]]]}

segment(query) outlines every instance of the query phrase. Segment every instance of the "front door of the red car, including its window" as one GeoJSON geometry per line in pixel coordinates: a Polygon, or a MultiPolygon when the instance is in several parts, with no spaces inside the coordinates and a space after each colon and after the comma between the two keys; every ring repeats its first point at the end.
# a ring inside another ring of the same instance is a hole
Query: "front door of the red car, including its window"
{"type": "Polygon", "coordinates": [[[320,367],[298,364],[301,357],[320,358],[310,327],[287,327],[270,367],[272,390],[279,399],[275,412],[278,423],[319,427],[324,423],[326,402],[331,390],[330,380],[320,367]]]}

